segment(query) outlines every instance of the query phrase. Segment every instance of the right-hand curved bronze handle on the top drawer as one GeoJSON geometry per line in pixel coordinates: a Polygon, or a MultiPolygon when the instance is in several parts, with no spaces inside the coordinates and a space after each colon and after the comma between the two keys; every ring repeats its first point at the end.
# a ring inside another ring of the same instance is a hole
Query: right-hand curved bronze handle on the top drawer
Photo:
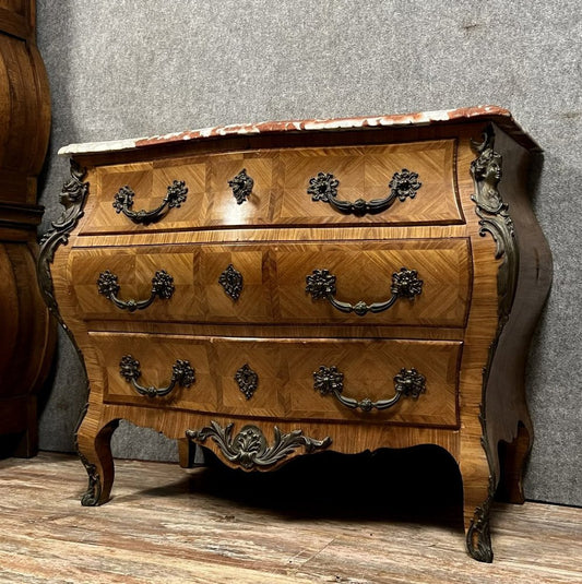
{"type": "Polygon", "coordinates": [[[311,195],[312,201],[323,201],[330,203],[330,205],[340,213],[354,214],[357,216],[375,215],[385,211],[392,206],[394,201],[399,199],[404,202],[407,196],[414,199],[416,191],[423,186],[418,181],[418,174],[412,172],[406,168],[403,168],[400,172],[394,172],[392,179],[388,183],[390,193],[384,199],[372,199],[371,201],[365,201],[364,199],[357,199],[353,203],[349,201],[340,201],[337,199],[337,187],[340,181],[330,172],[318,172],[317,177],[309,179],[309,188],[307,193],[311,195]]]}

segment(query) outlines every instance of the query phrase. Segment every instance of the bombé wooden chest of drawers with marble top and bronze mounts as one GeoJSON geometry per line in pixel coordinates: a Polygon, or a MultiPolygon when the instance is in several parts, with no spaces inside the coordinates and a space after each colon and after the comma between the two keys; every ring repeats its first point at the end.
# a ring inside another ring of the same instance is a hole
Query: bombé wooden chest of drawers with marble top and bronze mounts
{"type": "Polygon", "coordinates": [[[436,444],[490,561],[495,491],[523,501],[550,283],[536,150],[497,107],[63,148],[38,273],[90,383],[83,504],[109,497],[120,419],[245,470],[436,444]]]}

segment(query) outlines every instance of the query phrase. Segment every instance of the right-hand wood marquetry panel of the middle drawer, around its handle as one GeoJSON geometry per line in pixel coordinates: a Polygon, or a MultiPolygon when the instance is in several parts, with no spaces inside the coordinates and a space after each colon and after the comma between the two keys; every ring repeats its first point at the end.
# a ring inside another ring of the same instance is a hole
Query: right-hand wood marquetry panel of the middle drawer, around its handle
{"type": "Polygon", "coordinates": [[[471,264],[468,241],[385,240],[359,243],[297,243],[275,246],[276,310],[283,322],[405,324],[463,326],[468,308],[471,264]],[[335,297],[356,305],[391,297],[392,274],[416,270],[421,294],[399,298],[384,312],[346,314],[325,299],[305,293],[306,276],[328,270],[336,277],[335,297]]]}

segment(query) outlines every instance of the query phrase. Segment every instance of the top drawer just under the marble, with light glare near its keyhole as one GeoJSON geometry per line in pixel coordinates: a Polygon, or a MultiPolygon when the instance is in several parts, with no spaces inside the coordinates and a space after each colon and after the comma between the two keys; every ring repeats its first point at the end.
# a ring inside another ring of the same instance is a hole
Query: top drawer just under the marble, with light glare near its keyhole
{"type": "Polygon", "coordinates": [[[463,223],[455,147],[441,140],[103,166],[81,234],[463,223]]]}

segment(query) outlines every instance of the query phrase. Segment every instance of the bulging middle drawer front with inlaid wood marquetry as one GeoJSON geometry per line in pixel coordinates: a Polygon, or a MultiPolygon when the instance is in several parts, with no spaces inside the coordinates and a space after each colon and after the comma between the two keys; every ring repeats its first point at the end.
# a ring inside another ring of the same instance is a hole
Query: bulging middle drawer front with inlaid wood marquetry
{"type": "Polygon", "coordinates": [[[462,238],[78,249],[70,258],[86,320],[462,327],[468,309],[471,264],[462,238]],[[416,274],[416,294],[394,293],[403,267],[416,274]],[[161,271],[173,278],[170,297],[152,293],[161,271]],[[333,295],[318,296],[308,285],[318,271],[334,278],[333,295]],[[123,307],[107,296],[111,285],[123,307]],[[143,309],[129,306],[152,297],[143,309]]]}

